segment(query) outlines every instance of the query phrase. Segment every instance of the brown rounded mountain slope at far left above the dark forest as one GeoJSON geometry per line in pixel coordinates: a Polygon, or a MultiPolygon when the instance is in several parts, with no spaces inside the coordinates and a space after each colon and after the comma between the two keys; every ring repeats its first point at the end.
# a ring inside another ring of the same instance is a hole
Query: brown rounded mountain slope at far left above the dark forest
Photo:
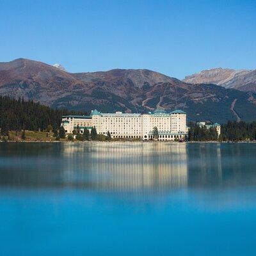
{"type": "Polygon", "coordinates": [[[68,95],[84,83],[71,74],[39,61],[17,59],[0,63],[0,93],[33,99],[51,106],[52,100],[68,95]]]}

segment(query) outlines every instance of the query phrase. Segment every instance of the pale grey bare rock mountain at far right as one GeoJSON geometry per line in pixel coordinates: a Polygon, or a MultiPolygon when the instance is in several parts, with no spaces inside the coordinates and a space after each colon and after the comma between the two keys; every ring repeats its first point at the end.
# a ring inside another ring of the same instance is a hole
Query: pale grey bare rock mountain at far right
{"type": "Polygon", "coordinates": [[[244,92],[256,92],[256,70],[234,70],[212,68],[198,74],[186,76],[186,83],[218,84],[225,88],[234,88],[244,92]]]}

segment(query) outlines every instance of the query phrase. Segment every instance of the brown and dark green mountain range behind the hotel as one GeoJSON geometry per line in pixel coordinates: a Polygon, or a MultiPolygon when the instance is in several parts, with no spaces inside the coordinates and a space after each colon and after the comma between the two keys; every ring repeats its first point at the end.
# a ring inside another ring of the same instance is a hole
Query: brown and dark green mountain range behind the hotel
{"type": "Polygon", "coordinates": [[[69,73],[55,66],[22,58],[0,63],[0,94],[87,112],[94,108],[127,113],[182,109],[189,120],[220,123],[256,117],[255,91],[224,86],[225,72],[214,81],[201,82],[196,75],[180,81],[145,69],[69,73]]]}

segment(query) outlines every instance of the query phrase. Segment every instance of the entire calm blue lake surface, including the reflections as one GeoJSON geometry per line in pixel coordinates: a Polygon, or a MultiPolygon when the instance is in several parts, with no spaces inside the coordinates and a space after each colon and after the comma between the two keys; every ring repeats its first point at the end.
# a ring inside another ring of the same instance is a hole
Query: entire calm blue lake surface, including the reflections
{"type": "Polygon", "coordinates": [[[255,255],[256,144],[1,143],[0,255],[255,255]]]}

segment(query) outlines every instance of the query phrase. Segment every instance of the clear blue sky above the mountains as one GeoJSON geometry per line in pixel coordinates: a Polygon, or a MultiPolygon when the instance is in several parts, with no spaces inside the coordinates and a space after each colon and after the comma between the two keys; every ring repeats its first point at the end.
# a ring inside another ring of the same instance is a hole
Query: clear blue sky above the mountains
{"type": "Polygon", "coordinates": [[[256,1],[0,0],[0,61],[70,72],[147,68],[183,78],[256,68],[256,1]]]}

